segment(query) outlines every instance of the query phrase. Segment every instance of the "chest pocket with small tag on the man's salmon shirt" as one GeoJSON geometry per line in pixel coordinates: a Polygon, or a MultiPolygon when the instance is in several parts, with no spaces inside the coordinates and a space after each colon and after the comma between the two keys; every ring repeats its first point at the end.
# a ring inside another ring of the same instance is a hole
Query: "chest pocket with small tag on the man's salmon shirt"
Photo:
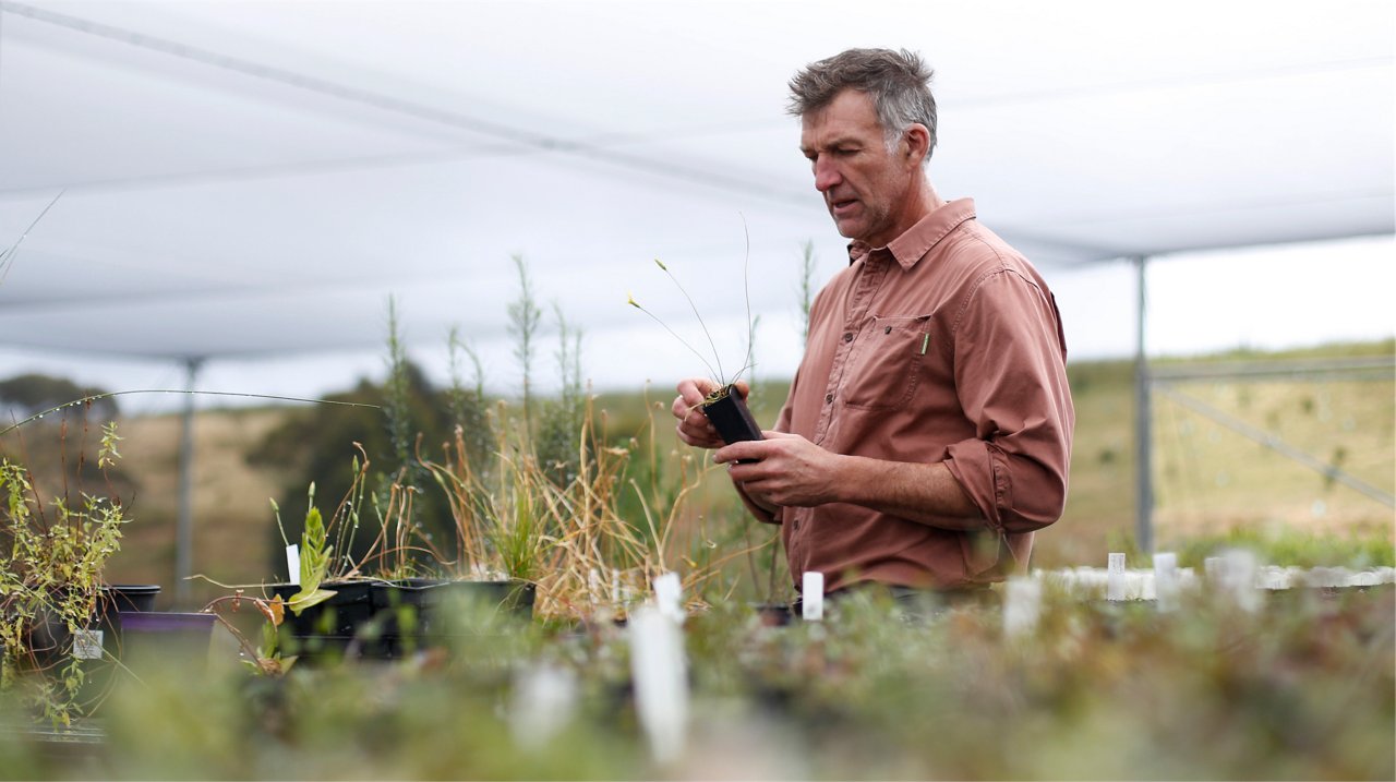
{"type": "Polygon", "coordinates": [[[872,317],[849,359],[843,402],[866,411],[907,404],[931,348],[931,316],[872,317]]]}

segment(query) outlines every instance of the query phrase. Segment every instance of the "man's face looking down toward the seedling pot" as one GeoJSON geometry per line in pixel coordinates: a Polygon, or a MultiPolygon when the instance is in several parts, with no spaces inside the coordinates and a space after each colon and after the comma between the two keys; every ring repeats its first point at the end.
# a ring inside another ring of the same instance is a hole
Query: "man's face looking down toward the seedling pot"
{"type": "Polygon", "coordinates": [[[920,176],[920,161],[905,154],[905,144],[888,152],[884,138],[872,98],[856,89],[801,117],[800,151],[833,223],[840,235],[872,247],[910,228],[900,218],[907,189],[920,176]]]}

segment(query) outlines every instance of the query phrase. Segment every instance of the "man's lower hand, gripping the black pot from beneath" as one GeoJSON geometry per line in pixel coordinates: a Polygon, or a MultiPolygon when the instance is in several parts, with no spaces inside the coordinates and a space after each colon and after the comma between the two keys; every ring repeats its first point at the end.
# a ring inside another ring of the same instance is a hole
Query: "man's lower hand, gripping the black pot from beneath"
{"type": "Polygon", "coordinates": [[[727,473],[762,507],[808,508],[838,501],[845,457],[825,451],[799,434],[765,431],[765,440],[733,443],[713,454],[727,473]],[[748,464],[737,464],[748,462],[748,464]]]}

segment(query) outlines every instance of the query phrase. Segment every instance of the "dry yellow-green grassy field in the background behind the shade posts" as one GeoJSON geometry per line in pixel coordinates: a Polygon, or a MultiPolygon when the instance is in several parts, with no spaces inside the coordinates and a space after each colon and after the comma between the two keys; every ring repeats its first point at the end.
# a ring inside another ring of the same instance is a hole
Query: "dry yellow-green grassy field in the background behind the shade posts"
{"type": "MultiPolygon", "coordinates": [[[[1318,355],[1386,355],[1392,344],[1333,346],[1318,355]]],[[[1311,352],[1311,355],[1315,352],[1311,352]]],[[[1217,356],[1213,360],[1234,359],[1217,356]]],[[[1251,356],[1261,357],[1261,356],[1251,356]]],[[[1263,356],[1266,359],[1277,356],[1263,356]]],[[[1294,356],[1289,356],[1294,357],[1294,356]]],[[[1127,550],[1134,531],[1134,367],[1129,362],[1071,366],[1078,426],[1065,515],[1039,535],[1034,566],[1104,566],[1108,550],[1127,550]]],[[[1180,384],[1175,392],[1265,429],[1323,464],[1350,472],[1386,494],[1396,487],[1393,381],[1208,381],[1180,384]]],[[[785,384],[757,387],[754,409],[769,425],[785,384]]],[[[669,388],[597,397],[596,409],[611,440],[651,438],[656,452],[683,448],[669,423],[669,388]]],[[[194,571],[222,582],[268,578],[274,517],[283,476],[250,466],[246,454],[286,415],[285,409],[208,409],[195,418],[193,476],[194,571]]],[[[1198,540],[1245,539],[1272,549],[1300,546],[1319,560],[1388,550],[1396,540],[1390,507],[1272,448],[1156,395],[1156,542],[1160,549],[1195,550],[1198,540]],[[1297,543],[1295,543],[1297,542],[1297,543]]],[[[179,416],[121,422],[123,469],[131,478],[130,511],[121,552],[109,567],[116,582],[156,582],[165,600],[173,592],[177,517],[179,416]]],[[[39,427],[27,438],[46,437],[39,427]]],[[[10,444],[7,443],[7,447],[10,444]]],[[[345,444],[346,450],[350,447],[345,444]]],[[[759,542],[771,529],[741,519],[720,472],[708,475],[694,503],[708,525],[737,526],[729,540],[759,542]]],[[[709,532],[712,535],[712,532],[709,532]]],[[[1286,564],[1286,563],[1279,563],[1286,564]]],[[[1353,564],[1319,561],[1315,564],[1353,564]]],[[[1361,564],[1361,563],[1356,563],[1361,564]]],[[[222,593],[195,585],[195,596],[222,593]]]]}

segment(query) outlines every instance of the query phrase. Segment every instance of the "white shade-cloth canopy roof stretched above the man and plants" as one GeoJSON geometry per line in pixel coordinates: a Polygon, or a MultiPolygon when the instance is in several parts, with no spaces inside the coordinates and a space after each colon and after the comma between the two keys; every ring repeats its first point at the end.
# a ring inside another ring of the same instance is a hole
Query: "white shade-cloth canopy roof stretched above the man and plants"
{"type": "MultiPolygon", "coordinates": [[[[0,346],[373,352],[389,293],[416,344],[503,339],[512,254],[593,335],[658,331],[631,290],[688,328],[655,257],[740,334],[745,236],[751,307],[786,323],[800,244],[832,270],[843,240],[785,85],[849,46],[927,57],[933,182],[1044,268],[1390,233],[1393,14],[0,0],[0,247],[63,191],[0,281],[0,346]]],[[[639,381],[673,349],[649,339],[591,351],[639,381]]]]}

